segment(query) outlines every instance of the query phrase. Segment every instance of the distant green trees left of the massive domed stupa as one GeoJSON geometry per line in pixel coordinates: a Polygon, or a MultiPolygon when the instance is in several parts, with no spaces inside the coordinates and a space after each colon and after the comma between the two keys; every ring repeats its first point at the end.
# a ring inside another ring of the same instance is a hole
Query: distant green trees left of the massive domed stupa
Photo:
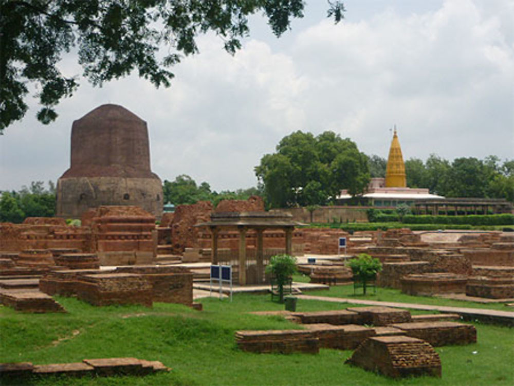
{"type": "Polygon", "coordinates": [[[2,192],[0,222],[22,223],[26,217],[51,217],[56,214],[56,187],[48,181],[31,182],[20,191],[2,192]]]}

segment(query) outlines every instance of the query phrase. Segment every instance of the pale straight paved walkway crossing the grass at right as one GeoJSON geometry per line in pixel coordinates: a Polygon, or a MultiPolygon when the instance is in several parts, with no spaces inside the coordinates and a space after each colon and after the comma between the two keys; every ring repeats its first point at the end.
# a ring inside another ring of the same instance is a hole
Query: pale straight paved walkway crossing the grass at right
{"type": "Polygon", "coordinates": [[[467,307],[449,307],[449,306],[437,306],[428,304],[414,304],[414,303],[397,303],[397,302],[380,302],[376,300],[359,300],[359,299],[348,299],[348,298],[329,298],[326,296],[311,296],[311,295],[298,295],[298,299],[305,300],[321,300],[324,302],[334,303],[352,303],[352,304],[363,304],[373,306],[384,306],[394,308],[411,308],[421,309],[427,311],[439,311],[442,313],[459,314],[466,320],[481,320],[489,321],[493,323],[505,324],[508,326],[514,326],[514,312],[512,311],[498,311],[495,309],[484,309],[484,308],[467,308],[467,307]]]}

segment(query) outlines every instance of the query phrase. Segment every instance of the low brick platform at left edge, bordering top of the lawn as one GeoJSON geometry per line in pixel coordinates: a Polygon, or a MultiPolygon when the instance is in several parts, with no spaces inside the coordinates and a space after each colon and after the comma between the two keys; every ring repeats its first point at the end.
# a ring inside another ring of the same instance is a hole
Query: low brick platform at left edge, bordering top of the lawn
{"type": "Polygon", "coordinates": [[[27,313],[61,313],[64,308],[46,293],[36,291],[2,290],[0,300],[7,307],[27,313]]]}

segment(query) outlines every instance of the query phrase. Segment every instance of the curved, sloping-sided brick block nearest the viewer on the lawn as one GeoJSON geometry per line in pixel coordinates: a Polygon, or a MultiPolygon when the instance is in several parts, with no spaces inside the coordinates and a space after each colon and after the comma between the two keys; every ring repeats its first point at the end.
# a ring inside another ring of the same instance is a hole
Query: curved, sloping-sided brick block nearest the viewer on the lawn
{"type": "Polygon", "coordinates": [[[421,339],[405,336],[368,338],[346,363],[391,378],[441,376],[441,361],[434,348],[421,339]]]}

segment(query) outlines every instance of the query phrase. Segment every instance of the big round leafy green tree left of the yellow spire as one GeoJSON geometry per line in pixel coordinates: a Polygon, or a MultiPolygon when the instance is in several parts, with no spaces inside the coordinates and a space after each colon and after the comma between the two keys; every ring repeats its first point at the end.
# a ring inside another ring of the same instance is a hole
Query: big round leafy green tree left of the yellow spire
{"type": "Polygon", "coordinates": [[[362,193],[370,179],[368,159],[350,139],[326,131],[297,131],[261,158],[255,174],[270,207],[326,205],[341,189],[362,193]]]}

